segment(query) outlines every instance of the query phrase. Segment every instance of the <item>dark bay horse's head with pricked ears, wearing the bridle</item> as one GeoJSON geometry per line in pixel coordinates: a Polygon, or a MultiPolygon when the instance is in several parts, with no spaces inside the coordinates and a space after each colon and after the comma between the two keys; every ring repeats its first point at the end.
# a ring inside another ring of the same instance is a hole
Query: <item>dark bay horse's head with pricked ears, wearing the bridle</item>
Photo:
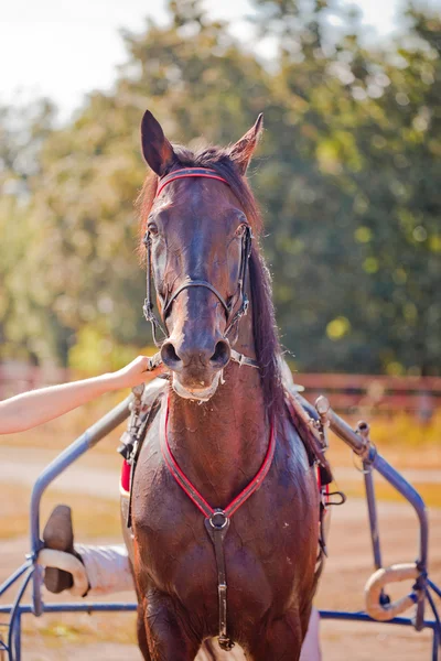
{"type": "MultiPolygon", "coordinates": [[[[228,365],[247,311],[246,277],[252,221],[240,189],[262,117],[233,147],[197,154],[172,145],[150,111],[142,153],[154,174],[143,218],[144,245],[166,338],[161,357],[174,391],[207,401],[228,365]]],[[[147,315],[151,318],[150,288],[147,315]]]]}

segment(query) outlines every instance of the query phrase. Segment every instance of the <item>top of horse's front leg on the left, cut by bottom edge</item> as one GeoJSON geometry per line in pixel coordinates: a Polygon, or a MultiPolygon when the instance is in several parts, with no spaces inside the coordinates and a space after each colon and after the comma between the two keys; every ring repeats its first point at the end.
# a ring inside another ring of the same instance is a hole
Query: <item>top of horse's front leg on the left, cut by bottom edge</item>
{"type": "Polygon", "coordinates": [[[202,641],[192,635],[187,616],[171,597],[157,590],[149,592],[143,610],[150,651],[148,659],[194,661],[202,641]]]}

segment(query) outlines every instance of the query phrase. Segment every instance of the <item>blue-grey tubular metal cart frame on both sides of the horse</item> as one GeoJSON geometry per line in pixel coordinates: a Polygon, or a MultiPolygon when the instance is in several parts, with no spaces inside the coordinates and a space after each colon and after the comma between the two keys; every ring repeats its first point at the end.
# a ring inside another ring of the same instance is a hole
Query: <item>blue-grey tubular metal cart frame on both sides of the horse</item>
{"type": "MultiPolygon", "coordinates": [[[[93,604],[44,604],[41,594],[42,567],[37,564],[39,552],[43,546],[40,539],[40,503],[45,489],[68,466],[76,462],[83,454],[95,447],[109,432],[117,427],[130,414],[130,404],[133,395],[129,395],[97,423],[90,426],[82,436],[62,452],[40,475],[31,497],[30,507],[30,535],[31,551],[25,562],[0,586],[0,597],[13,587],[17,588],[14,600],[11,604],[0,606],[0,615],[9,616],[4,625],[4,633],[0,625],[0,659],[2,652],[7,654],[8,661],[21,661],[21,621],[22,616],[33,614],[35,617],[44,613],[115,613],[132,611],[137,609],[136,604],[130,603],[93,603],[93,604]],[[29,584],[32,584],[31,603],[23,604],[23,597],[29,584]]],[[[374,470],[377,470],[401,496],[412,506],[419,521],[419,556],[416,561],[418,577],[412,587],[412,596],[416,603],[416,613],[412,618],[395,617],[383,622],[413,627],[417,631],[431,629],[432,631],[432,661],[438,661],[441,646],[441,621],[434,604],[433,594],[441,597],[441,589],[429,578],[428,575],[428,538],[429,525],[424,502],[418,491],[376,451],[368,435],[366,423],[358,425],[356,431],[336,413],[332,411],[325,398],[319,398],[316,409],[324,426],[329,426],[363,459],[364,479],[366,487],[366,499],[369,514],[370,538],[374,553],[374,566],[376,570],[381,565],[381,551],[378,533],[377,508],[374,490],[374,470]],[[430,609],[430,619],[426,619],[424,611],[430,609]]],[[[387,596],[381,593],[381,599],[387,596]]],[[[355,620],[364,622],[377,622],[366,613],[346,613],[337,610],[321,610],[322,619],[355,620]]]]}

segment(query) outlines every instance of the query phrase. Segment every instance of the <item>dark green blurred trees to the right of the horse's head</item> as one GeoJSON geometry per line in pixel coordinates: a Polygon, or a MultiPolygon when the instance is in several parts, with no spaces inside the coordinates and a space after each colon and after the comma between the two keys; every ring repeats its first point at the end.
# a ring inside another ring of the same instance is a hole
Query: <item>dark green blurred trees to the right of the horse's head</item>
{"type": "Polygon", "coordinates": [[[440,19],[409,10],[367,52],[356,14],[330,46],[330,3],[257,4],[280,52],[259,182],[286,343],[306,369],[439,373],[440,19]]]}

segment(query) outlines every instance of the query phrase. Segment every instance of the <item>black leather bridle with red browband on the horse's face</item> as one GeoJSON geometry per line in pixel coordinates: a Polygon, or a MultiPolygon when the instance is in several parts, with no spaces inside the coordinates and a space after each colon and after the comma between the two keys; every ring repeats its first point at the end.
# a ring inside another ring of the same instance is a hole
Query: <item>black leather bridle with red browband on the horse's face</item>
{"type": "MultiPolygon", "coordinates": [[[[181,178],[186,178],[186,177],[205,177],[205,178],[217,180],[219,182],[223,182],[227,186],[229,186],[227,180],[224,178],[223,176],[220,176],[215,170],[209,170],[207,167],[187,167],[187,169],[182,169],[182,170],[175,170],[174,172],[171,172],[166,176],[160,178],[159,185],[158,185],[158,191],[155,194],[155,199],[158,198],[158,196],[161,194],[161,192],[168,184],[171,184],[174,181],[178,181],[181,178]]],[[[150,322],[150,324],[151,324],[153,342],[157,345],[157,347],[161,347],[163,342],[170,336],[169,329],[166,327],[166,316],[168,316],[174,301],[178,299],[178,296],[184,290],[190,289],[192,286],[200,286],[200,288],[207,289],[217,297],[217,300],[219,301],[220,305],[223,306],[223,308],[225,311],[226,319],[227,319],[227,325],[226,325],[226,328],[224,332],[224,336],[226,338],[228,338],[228,336],[230,336],[229,342],[230,342],[232,346],[237,342],[238,324],[239,324],[240,318],[247,314],[248,305],[249,305],[248,296],[246,293],[246,278],[247,278],[247,272],[248,272],[248,261],[249,261],[249,257],[251,254],[251,241],[252,241],[251,228],[247,225],[247,226],[245,226],[245,232],[241,238],[240,269],[239,269],[239,278],[237,281],[236,294],[234,296],[232,296],[232,300],[229,303],[227,301],[225,301],[224,296],[217,291],[217,289],[213,284],[207,282],[206,280],[193,280],[192,278],[185,278],[184,281],[182,282],[182,284],[180,284],[180,286],[171,295],[168,295],[163,300],[162,315],[161,315],[162,324],[161,324],[160,321],[158,319],[157,315],[153,312],[152,286],[151,286],[151,281],[152,281],[152,259],[151,259],[152,237],[151,237],[151,232],[149,231],[149,229],[147,229],[146,235],[142,239],[142,242],[146,246],[146,261],[147,261],[147,264],[146,264],[147,295],[146,295],[144,304],[142,306],[142,311],[143,311],[146,319],[148,322],[150,322]],[[238,308],[235,312],[235,306],[237,305],[237,301],[240,301],[240,303],[239,303],[238,308]],[[160,330],[163,335],[162,340],[158,339],[158,330],[160,330]]],[[[232,359],[235,360],[236,362],[239,362],[240,365],[258,367],[258,364],[256,362],[256,360],[252,360],[251,358],[247,358],[243,354],[238,354],[235,350],[232,350],[232,359]]]]}

